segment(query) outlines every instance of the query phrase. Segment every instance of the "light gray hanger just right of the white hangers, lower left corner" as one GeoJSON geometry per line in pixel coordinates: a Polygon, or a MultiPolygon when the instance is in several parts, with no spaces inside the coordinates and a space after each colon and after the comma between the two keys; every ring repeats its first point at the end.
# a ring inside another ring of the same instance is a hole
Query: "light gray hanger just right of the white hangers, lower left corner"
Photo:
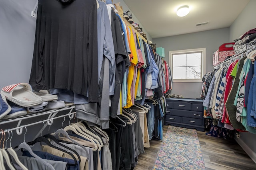
{"type": "Polygon", "coordinates": [[[26,149],[26,150],[28,150],[28,152],[29,152],[32,156],[34,156],[34,158],[37,158],[40,162],[42,162],[43,164],[45,164],[46,166],[48,166],[51,170],[55,170],[54,167],[53,167],[51,164],[49,164],[48,162],[46,162],[45,160],[43,160],[42,158],[40,158],[39,156],[37,156],[36,154],[34,154],[34,152],[32,151],[32,149],[30,148],[30,146],[29,146],[29,145],[26,143],[26,141],[25,141],[25,135],[26,135],[26,133],[27,133],[27,127],[24,126],[24,125],[22,126],[22,128],[23,128],[23,127],[26,129],[26,132],[25,132],[24,135],[23,135],[24,141],[23,141],[23,143],[20,143],[19,146],[15,147],[14,150],[26,149]]]}

